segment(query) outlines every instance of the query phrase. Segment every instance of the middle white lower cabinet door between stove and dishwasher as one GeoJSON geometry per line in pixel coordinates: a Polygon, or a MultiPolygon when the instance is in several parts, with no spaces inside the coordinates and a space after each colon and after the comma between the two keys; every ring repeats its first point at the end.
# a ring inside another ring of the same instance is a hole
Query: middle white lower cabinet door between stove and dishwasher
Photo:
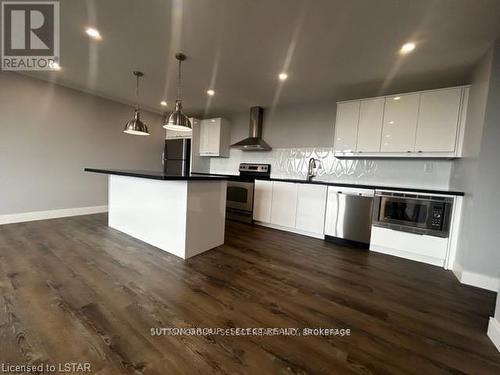
{"type": "Polygon", "coordinates": [[[297,184],[274,181],[271,223],[283,227],[295,228],[296,211],[297,184]]]}

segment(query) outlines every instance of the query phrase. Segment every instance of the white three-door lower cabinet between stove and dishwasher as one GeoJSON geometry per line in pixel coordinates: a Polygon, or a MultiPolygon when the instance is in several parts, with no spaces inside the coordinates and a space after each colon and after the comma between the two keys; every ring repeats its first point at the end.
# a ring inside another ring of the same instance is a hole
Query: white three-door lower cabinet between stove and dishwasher
{"type": "Polygon", "coordinates": [[[256,180],[253,219],[312,237],[323,238],[327,186],[256,180]]]}

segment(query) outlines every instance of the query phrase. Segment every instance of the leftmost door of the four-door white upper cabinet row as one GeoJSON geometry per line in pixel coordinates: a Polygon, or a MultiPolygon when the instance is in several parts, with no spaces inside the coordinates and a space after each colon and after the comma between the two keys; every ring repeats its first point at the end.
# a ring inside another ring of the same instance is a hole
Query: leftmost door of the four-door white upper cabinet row
{"type": "Polygon", "coordinates": [[[352,152],[356,150],[359,104],[359,101],[337,104],[334,142],[336,152],[352,152]]]}

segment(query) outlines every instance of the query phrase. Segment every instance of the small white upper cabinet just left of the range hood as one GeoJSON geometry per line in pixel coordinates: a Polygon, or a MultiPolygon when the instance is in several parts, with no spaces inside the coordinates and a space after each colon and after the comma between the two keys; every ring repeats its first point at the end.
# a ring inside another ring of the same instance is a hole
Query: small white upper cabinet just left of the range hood
{"type": "Polygon", "coordinates": [[[229,124],[226,120],[201,120],[200,156],[229,157],[229,124]]]}

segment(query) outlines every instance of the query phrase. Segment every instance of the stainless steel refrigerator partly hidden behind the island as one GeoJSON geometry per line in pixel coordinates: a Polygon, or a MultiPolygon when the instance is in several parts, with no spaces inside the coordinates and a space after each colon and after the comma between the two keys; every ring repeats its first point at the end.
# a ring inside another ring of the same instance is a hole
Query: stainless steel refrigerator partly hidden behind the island
{"type": "Polygon", "coordinates": [[[163,151],[165,174],[187,175],[191,164],[191,139],[167,139],[163,151]]]}

